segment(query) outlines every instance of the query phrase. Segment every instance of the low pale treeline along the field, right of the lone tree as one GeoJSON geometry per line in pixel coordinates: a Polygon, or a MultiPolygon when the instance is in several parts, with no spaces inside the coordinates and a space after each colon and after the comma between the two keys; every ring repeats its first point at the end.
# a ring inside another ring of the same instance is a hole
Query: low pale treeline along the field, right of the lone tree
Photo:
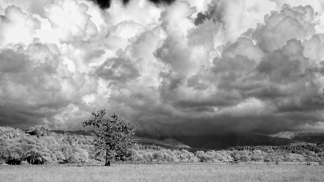
{"type": "Polygon", "coordinates": [[[261,150],[222,150],[197,151],[161,149],[134,150],[134,160],[138,162],[317,162],[324,161],[324,153],[310,152],[309,155],[281,152],[264,152],[261,150]]]}

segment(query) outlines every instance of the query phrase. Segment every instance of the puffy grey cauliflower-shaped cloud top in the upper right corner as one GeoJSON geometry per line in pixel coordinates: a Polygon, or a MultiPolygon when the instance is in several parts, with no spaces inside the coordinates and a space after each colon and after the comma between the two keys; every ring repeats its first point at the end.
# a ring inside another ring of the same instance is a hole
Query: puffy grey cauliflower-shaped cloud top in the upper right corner
{"type": "Polygon", "coordinates": [[[287,40],[310,38],[315,33],[315,14],[311,6],[282,7],[280,12],[265,16],[265,24],[258,24],[245,35],[252,36],[264,51],[282,47],[287,40]]]}

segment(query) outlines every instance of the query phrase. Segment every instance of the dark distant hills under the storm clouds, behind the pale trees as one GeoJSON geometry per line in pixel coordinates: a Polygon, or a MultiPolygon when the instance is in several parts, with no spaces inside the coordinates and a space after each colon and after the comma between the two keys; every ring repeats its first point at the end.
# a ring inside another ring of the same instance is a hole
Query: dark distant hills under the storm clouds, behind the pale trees
{"type": "MultiPolygon", "coordinates": [[[[92,136],[95,130],[50,130],[55,133],[67,135],[92,136]]],[[[135,134],[132,138],[141,145],[155,145],[172,150],[186,149],[190,152],[198,150],[222,150],[234,146],[282,146],[299,142],[320,144],[324,142],[324,136],[302,135],[293,139],[273,138],[261,134],[227,134],[227,135],[189,135],[189,136],[168,136],[156,138],[145,134],[135,134]]]]}

